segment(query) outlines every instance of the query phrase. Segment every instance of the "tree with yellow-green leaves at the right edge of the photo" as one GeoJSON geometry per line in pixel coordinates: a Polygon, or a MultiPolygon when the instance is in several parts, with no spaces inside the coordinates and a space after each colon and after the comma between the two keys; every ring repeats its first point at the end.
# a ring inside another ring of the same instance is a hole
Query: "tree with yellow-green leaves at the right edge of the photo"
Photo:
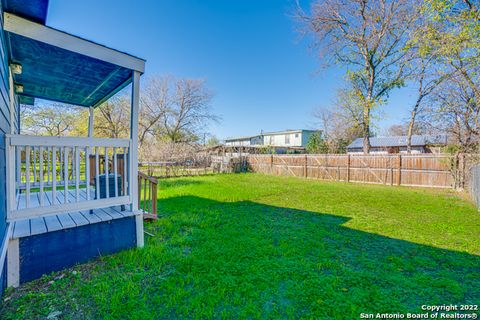
{"type": "Polygon", "coordinates": [[[450,133],[461,152],[478,150],[480,137],[479,8],[479,0],[425,0],[425,26],[412,40],[445,77],[425,117],[450,133]]]}

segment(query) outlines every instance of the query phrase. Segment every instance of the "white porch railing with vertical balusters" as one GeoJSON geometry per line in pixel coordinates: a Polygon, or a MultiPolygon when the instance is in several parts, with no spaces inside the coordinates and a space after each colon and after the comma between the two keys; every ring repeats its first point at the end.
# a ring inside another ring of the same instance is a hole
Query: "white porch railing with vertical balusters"
{"type": "Polygon", "coordinates": [[[131,204],[130,147],[129,139],[7,135],[7,219],[131,204]]]}

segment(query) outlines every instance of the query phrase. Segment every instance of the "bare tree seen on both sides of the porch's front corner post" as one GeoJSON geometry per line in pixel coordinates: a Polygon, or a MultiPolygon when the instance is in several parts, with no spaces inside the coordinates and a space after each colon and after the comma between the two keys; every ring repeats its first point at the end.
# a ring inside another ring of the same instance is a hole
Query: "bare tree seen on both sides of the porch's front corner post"
{"type": "MultiPolygon", "coordinates": [[[[140,95],[140,147],[147,142],[162,140],[197,140],[200,131],[210,121],[219,119],[211,109],[212,97],[204,80],[176,79],[171,76],[149,78],[142,86],[140,95]]],[[[113,98],[97,109],[95,126],[99,135],[114,138],[128,135],[128,96],[113,98]]]]}

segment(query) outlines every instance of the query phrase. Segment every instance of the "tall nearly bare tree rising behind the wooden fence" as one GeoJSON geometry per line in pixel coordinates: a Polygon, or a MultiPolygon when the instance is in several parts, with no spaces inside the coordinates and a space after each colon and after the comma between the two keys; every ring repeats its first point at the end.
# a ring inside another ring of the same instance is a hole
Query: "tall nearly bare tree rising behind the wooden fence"
{"type": "Polygon", "coordinates": [[[313,34],[322,56],[348,68],[348,80],[362,109],[363,150],[370,149],[371,111],[403,85],[409,30],[419,0],[315,1],[298,9],[303,31],[313,34]]]}

